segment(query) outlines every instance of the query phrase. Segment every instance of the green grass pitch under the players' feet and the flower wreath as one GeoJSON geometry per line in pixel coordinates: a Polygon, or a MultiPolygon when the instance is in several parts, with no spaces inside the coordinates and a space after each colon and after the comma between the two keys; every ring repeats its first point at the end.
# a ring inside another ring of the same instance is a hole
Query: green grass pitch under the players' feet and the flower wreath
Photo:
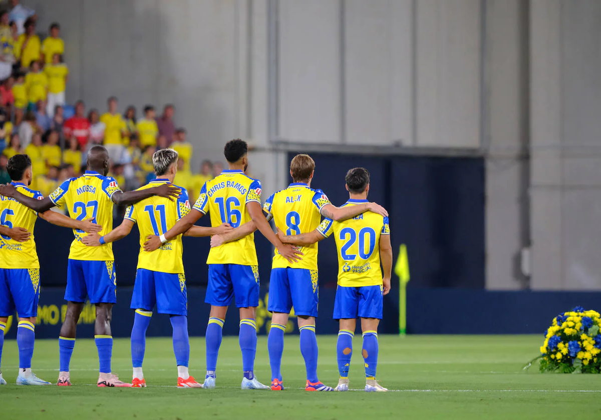
{"type": "MultiPolygon", "coordinates": [[[[319,377],[338,382],[336,337],[319,335],[319,377]]],[[[14,384],[17,344],[5,341],[0,386],[1,419],[601,419],[601,376],[540,374],[521,370],[538,353],[542,335],[380,335],[378,379],[388,393],[362,391],[365,383],[361,338],[355,337],[350,388],[361,391],[305,392],[305,371],[297,336],[286,337],[284,392],[241,391],[242,360],[237,337],[225,337],[216,389],[177,389],[169,338],[149,338],[145,389],[106,389],[98,377],[93,340],[78,339],[71,365],[74,386],[14,384]]],[[[191,374],[204,378],[204,339],[191,339],[191,374]]],[[[58,341],[37,340],[33,368],[43,379],[58,376],[58,341]]],[[[113,370],[131,376],[129,340],[115,340],[113,370]]],[[[266,337],[258,338],[255,373],[269,383],[266,337]]]]}

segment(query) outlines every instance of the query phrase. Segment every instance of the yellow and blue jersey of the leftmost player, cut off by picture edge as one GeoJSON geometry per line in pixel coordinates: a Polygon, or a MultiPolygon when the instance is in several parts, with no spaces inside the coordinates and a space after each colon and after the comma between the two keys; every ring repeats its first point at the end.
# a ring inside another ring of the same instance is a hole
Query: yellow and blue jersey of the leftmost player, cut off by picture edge
{"type": "MultiPolygon", "coordinates": [[[[11,182],[19,193],[41,200],[38,191],[30,190],[22,182],[11,182]]],[[[22,227],[31,232],[29,241],[17,242],[0,235],[0,268],[40,268],[33,235],[37,213],[15,199],[0,196],[0,224],[7,227],[22,227]]]]}

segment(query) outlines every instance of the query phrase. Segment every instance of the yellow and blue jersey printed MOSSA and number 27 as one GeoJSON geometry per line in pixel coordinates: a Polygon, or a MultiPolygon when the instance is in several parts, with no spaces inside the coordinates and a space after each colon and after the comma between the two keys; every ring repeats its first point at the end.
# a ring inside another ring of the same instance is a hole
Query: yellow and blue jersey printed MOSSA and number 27
{"type": "MultiPolygon", "coordinates": [[[[102,226],[100,236],[112,230],[112,195],[121,191],[115,178],[87,170],[79,178],[70,178],[50,194],[50,200],[57,206],[66,206],[71,218],[85,220],[93,218],[102,226]]],[[[75,240],[71,244],[69,259],[89,261],[114,261],[112,243],[100,247],[87,247],[81,238],[87,235],[83,230],[73,229],[75,240]]]]}

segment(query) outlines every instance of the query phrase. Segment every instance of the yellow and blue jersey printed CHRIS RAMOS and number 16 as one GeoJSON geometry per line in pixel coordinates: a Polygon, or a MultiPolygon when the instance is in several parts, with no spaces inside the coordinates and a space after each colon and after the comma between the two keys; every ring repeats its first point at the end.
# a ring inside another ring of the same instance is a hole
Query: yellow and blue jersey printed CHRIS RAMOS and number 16
{"type": "MultiPolygon", "coordinates": [[[[193,209],[202,214],[210,212],[213,227],[222,223],[238,227],[251,221],[246,203],[253,201],[261,204],[261,182],[241,170],[224,170],[204,183],[193,209]]],[[[207,264],[257,265],[254,233],[211,248],[207,264]]]]}

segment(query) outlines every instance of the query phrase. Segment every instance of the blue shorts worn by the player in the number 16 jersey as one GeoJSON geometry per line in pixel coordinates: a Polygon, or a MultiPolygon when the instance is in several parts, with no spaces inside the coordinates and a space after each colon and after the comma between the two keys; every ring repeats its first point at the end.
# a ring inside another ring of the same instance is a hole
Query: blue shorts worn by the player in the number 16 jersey
{"type": "Polygon", "coordinates": [[[258,307],[258,266],[209,264],[209,285],[204,302],[213,306],[230,306],[233,296],[236,296],[239,308],[258,307]]]}

